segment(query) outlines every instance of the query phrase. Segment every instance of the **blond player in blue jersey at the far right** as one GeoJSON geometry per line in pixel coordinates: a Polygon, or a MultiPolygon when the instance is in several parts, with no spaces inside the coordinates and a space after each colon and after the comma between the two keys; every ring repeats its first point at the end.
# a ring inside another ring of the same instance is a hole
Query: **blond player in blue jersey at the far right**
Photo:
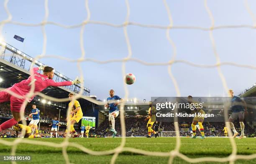
{"type": "Polygon", "coordinates": [[[239,136],[239,139],[243,139],[243,136],[244,136],[243,120],[244,120],[244,116],[247,116],[247,114],[248,114],[246,102],[243,101],[240,97],[234,96],[233,95],[234,92],[232,89],[230,89],[228,91],[228,93],[229,93],[229,96],[232,98],[231,106],[230,106],[232,113],[231,113],[228,121],[229,121],[230,128],[234,132],[233,138],[236,138],[236,136],[238,135],[238,132],[236,131],[233,121],[236,120],[237,118],[239,118],[239,123],[240,123],[240,127],[241,127],[241,136],[239,136]]]}

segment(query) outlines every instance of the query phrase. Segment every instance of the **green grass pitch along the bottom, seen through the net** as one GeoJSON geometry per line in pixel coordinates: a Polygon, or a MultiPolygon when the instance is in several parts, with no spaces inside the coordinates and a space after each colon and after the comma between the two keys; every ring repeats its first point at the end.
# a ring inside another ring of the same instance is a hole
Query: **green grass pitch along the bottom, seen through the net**
{"type": "MultiPolygon", "coordinates": [[[[13,141],[14,139],[1,139],[6,141],[13,141]]],[[[60,143],[64,139],[31,139],[38,141],[48,141],[60,143]]],[[[159,137],[159,138],[126,138],[125,147],[133,147],[136,149],[143,149],[148,151],[162,151],[167,152],[175,148],[174,137],[159,137]]],[[[256,138],[235,139],[238,154],[248,155],[256,153],[256,138]]],[[[114,149],[121,143],[121,138],[75,138],[69,139],[70,142],[75,142],[81,146],[95,151],[114,149]]],[[[231,153],[231,144],[228,138],[206,138],[190,139],[181,138],[182,145],[180,152],[191,158],[196,157],[225,157],[231,153]]],[[[11,146],[0,144],[0,155],[10,155],[11,146]]],[[[16,150],[18,155],[30,155],[31,161],[18,161],[17,164],[65,164],[61,148],[38,146],[31,144],[19,144],[16,150]]],[[[109,164],[112,155],[93,156],[85,154],[74,147],[67,149],[70,162],[72,164],[109,164]]],[[[134,154],[131,152],[122,152],[119,154],[116,164],[167,164],[168,157],[159,156],[144,156],[134,154]]],[[[0,161],[0,164],[10,164],[11,162],[0,161]]],[[[174,164],[189,164],[188,162],[176,157],[174,164]]],[[[197,164],[228,164],[216,162],[204,162],[197,164]]],[[[256,164],[256,159],[252,160],[238,160],[235,164],[256,164]]]]}

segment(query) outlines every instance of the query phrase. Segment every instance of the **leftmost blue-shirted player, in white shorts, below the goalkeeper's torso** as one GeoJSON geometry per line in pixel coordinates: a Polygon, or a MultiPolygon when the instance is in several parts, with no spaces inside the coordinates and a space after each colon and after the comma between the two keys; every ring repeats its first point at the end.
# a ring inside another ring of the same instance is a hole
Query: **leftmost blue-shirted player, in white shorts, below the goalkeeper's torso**
{"type": "Polygon", "coordinates": [[[31,110],[31,114],[28,115],[28,117],[32,117],[28,126],[30,126],[31,129],[33,129],[32,134],[34,134],[34,132],[36,131],[36,137],[40,137],[37,129],[37,124],[40,121],[40,111],[38,108],[36,108],[35,104],[33,104],[32,108],[33,109],[31,110]]]}

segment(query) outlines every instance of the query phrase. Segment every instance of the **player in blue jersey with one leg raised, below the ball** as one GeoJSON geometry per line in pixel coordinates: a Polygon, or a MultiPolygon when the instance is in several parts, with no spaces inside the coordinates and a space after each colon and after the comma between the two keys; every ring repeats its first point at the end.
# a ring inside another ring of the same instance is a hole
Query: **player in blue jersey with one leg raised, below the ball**
{"type": "Polygon", "coordinates": [[[111,128],[111,132],[113,132],[113,137],[117,134],[115,131],[115,118],[119,115],[118,103],[123,101],[119,96],[114,96],[115,91],[111,89],[109,91],[110,97],[107,98],[107,104],[105,104],[106,108],[109,108],[108,121],[111,128]]]}

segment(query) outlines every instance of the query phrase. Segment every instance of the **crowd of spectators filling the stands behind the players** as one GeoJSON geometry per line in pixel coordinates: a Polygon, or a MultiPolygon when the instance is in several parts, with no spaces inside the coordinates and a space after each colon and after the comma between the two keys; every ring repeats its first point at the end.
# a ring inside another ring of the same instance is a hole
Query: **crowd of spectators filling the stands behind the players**
{"type": "MultiPolygon", "coordinates": [[[[12,117],[12,114],[10,112],[10,103],[1,103],[0,104],[0,116],[1,117],[12,117]]],[[[28,116],[31,112],[31,109],[29,107],[25,110],[25,118],[28,116]]],[[[50,121],[59,115],[59,110],[44,110],[42,109],[40,111],[40,118],[48,120],[46,123],[50,123],[50,121]]],[[[65,122],[65,111],[61,111],[61,117],[60,121],[65,122]]],[[[125,130],[126,130],[126,136],[147,136],[148,135],[148,129],[146,127],[147,121],[144,120],[145,117],[125,117],[125,130]]],[[[41,123],[40,126],[40,134],[43,137],[49,137],[51,133],[51,127],[49,127],[49,124],[41,123]]],[[[28,124],[28,122],[27,122],[28,124]]],[[[118,132],[116,136],[122,136],[121,135],[121,126],[120,126],[120,117],[115,119],[115,130],[118,132]]],[[[240,124],[238,121],[234,122],[234,125],[237,129],[237,131],[240,133],[240,124]]],[[[205,136],[224,136],[223,128],[225,126],[225,123],[223,122],[204,122],[204,131],[205,136]]],[[[179,133],[180,136],[190,136],[190,129],[191,122],[179,122],[179,133]]],[[[79,127],[77,128],[77,132],[80,133],[79,127]]],[[[58,132],[59,136],[63,136],[65,132],[66,126],[61,126],[60,130],[58,132]]],[[[154,128],[153,128],[154,129],[154,128]]],[[[173,122],[160,122],[158,125],[159,131],[175,131],[174,129],[174,123],[173,122]]],[[[154,129],[155,130],[155,129],[154,129]]],[[[197,130],[197,136],[200,136],[200,131],[197,130]]],[[[55,134],[55,133],[54,133],[55,134]]],[[[101,137],[110,137],[112,136],[112,133],[110,132],[110,126],[108,118],[106,118],[96,130],[91,130],[90,134],[93,134],[93,136],[101,136],[101,137]]],[[[174,133],[175,134],[175,133],[174,133]]],[[[256,136],[256,131],[252,129],[248,124],[245,122],[245,134],[248,136],[256,136]]],[[[7,129],[5,131],[0,132],[1,137],[15,137],[15,131],[12,129],[7,129]]]]}

